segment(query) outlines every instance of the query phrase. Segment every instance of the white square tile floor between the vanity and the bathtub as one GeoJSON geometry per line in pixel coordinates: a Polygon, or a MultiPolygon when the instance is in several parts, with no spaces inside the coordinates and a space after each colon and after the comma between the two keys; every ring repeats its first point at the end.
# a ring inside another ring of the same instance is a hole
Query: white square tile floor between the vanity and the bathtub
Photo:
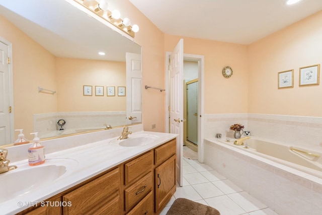
{"type": "MultiPolygon", "coordinates": [[[[184,150],[190,150],[186,148],[184,150]]],[[[183,186],[177,186],[177,191],[160,214],[165,215],[176,198],[188,198],[212,206],[221,215],[277,214],[209,166],[187,158],[183,159],[183,186]]]]}

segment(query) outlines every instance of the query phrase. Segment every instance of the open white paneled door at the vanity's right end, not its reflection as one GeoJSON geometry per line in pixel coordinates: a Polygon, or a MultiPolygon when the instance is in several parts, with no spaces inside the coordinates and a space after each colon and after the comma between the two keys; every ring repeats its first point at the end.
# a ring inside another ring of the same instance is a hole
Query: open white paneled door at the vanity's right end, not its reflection
{"type": "Polygon", "coordinates": [[[177,133],[177,181],[183,184],[183,39],[170,55],[170,133],[177,133]]]}

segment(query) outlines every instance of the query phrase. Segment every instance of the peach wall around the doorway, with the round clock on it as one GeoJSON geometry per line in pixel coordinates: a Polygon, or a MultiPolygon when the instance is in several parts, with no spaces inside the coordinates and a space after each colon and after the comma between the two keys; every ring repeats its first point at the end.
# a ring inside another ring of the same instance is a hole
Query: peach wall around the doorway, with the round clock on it
{"type": "Polygon", "coordinates": [[[180,38],[184,38],[184,53],[205,57],[205,113],[246,113],[249,76],[247,46],[166,34],[166,51],[172,51],[180,38]],[[229,79],[222,76],[222,68],[227,65],[233,70],[229,79]]]}

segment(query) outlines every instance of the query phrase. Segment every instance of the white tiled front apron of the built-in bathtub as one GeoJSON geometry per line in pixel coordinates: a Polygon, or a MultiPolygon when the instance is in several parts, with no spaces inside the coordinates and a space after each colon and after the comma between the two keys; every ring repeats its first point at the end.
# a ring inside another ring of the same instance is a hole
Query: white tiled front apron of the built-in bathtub
{"type": "Polygon", "coordinates": [[[204,146],[205,164],[275,212],[315,215],[322,211],[322,179],[251,154],[236,157],[233,150],[209,140],[204,146]]]}

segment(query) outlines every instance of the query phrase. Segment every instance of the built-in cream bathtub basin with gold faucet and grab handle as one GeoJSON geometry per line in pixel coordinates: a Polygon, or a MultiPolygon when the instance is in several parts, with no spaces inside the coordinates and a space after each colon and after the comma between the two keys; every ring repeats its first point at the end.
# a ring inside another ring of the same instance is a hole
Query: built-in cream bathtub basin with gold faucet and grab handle
{"type": "Polygon", "coordinates": [[[265,141],[256,137],[246,139],[245,146],[233,145],[233,141],[219,140],[223,144],[244,150],[285,166],[322,178],[322,153],[297,146],[285,146],[265,141]],[[310,153],[308,155],[306,153],[310,153]]]}

